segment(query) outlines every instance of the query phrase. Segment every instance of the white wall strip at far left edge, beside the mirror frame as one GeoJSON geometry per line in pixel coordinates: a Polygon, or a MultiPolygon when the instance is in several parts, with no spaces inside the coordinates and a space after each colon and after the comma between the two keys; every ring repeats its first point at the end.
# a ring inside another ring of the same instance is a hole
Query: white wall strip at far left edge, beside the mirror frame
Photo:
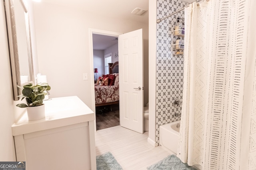
{"type": "Polygon", "coordinates": [[[14,123],[14,101],[3,2],[0,3],[0,39],[0,78],[3,85],[0,88],[0,161],[16,161],[11,128],[14,123]]]}

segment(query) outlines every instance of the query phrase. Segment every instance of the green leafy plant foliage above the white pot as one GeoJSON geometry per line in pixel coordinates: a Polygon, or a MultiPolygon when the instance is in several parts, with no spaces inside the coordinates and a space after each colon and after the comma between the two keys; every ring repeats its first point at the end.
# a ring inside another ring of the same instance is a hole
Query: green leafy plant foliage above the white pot
{"type": "Polygon", "coordinates": [[[46,90],[50,90],[51,87],[47,83],[32,84],[28,83],[24,86],[18,86],[22,89],[22,94],[18,97],[21,97],[23,100],[26,98],[27,105],[24,103],[17,104],[18,107],[34,107],[43,105],[44,95],[46,95],[46,90]]]}

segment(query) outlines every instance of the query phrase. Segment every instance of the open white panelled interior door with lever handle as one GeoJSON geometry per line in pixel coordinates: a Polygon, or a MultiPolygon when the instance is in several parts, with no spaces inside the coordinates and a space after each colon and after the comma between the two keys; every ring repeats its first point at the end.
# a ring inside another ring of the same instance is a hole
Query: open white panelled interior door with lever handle
{"type": "Polygon", "coordinates": [[[119,35],[120,125],[143,133],[142,29],[119,35]]]}

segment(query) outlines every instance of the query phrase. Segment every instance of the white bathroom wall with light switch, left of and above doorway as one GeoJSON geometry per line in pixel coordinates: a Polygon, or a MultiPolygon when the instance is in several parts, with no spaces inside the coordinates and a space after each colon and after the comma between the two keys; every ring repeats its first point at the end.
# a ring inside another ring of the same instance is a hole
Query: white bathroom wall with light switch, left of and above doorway
{"type": "MultiPolygon", "coordinates": [[[[127,20],[93,16],[70,7],[34,3],[38,68],[47,75],[51,98],[78,96],[94,109],[94,69],[90,64],[89,28],[126,33],[143,28],[148,39],[148,25],[127,20]],[[88,80],[82,80],[88,73],[88,80]]],[[[148,50],[148,49],[147,49],[148,50]]]]}

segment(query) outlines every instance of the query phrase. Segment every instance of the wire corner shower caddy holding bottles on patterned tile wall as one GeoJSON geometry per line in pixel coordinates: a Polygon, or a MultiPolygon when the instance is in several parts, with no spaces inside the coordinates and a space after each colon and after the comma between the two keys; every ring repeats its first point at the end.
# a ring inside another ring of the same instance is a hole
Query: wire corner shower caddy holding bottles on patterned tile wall
{"type": "MultiPolygon", "coordinates": [[[[184,24],[182,24],[184,25],[184,24]]],[[[173,56],[182,56],[184,54],[184,43],[176,43],[176,41],[173,41],[174,38],[175,40],[180,38],[181,42],[184,42],[184,35],[185,35],[185,30],[184,29],[174,29],[174,26],[172,27],[172,41],[171,41],[171,51],[173,56]]]]}

